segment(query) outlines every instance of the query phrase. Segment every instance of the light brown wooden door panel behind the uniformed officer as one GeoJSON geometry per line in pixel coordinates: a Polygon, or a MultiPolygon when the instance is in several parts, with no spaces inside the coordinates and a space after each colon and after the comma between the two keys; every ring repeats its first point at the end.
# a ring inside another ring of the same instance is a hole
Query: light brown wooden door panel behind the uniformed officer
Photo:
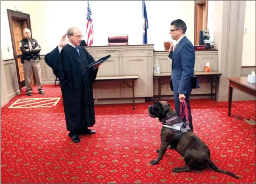
{"type": "MultiPolygon", "coordinates": [[[[14,35],[14,42],[16,45],[16,55],[18,56],[21,53],[20,50],[20,41],[21,39],[25,38],[24,35],[22,34],[21,27],[26,28],[27,26],[26,21],[24,20],[18,20],[18,19],[12,19],[12,26],[13,26],[13,35],[14,35]],[[21,26],[22,25],[22,26],[21,26]]],[[[25,79],[24,79],[24,70],[23,70],[23,64],[21,63],[21,58],[17,57],[18,61],[18,70],[19,70],[19,76],[20,76],[20,83],[21,83],[21,88],[25,87],[25,79]]],[[[34,85],[34,79],[33,79],[33,71],[31,75],[31,86],[34,85]]]]}

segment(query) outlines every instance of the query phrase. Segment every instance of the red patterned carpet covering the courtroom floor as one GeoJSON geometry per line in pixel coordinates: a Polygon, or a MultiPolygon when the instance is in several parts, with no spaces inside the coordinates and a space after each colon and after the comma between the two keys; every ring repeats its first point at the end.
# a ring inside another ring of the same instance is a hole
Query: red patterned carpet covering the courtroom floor
{"type": "Polygon", "coordinates": [[[95,106],[96,134],[73,143],[62,99],[54,107],[45,106],[56,99],[26,105],[26,98],[61,97],[59,86],[44,86],[44,92],[34,88],[32,97],[22,92],[1,109],[1,183],[255,183],[255,125],[236,118],[255,119],[252,101],[233,102],[234,116],[228,117],[227,102],[191,100],[194,133],[207,143],[213,162],[237,174],[240,179],[235,179],[212,169],[174,173],[184,159],[169,149],[159,164],[150,165],[161,130],[147,113],[153,102],[138,103],[135,111],[131,104],[95,106]]]}

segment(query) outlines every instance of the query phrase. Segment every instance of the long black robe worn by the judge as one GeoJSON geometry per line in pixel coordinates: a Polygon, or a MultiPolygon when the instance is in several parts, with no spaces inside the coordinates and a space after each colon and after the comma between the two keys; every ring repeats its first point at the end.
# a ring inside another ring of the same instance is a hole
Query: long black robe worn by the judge
{"type": "Polygon", "coordinates": [[[46,54],[44,60],[59,78],[61,86],[66,127],[77,132],[95,124],[93,82],[98,68],[86,68],[94,58],[82,46],[80,56],[73,46],[67,44],[59,53],[58,46],[46,54]]]}

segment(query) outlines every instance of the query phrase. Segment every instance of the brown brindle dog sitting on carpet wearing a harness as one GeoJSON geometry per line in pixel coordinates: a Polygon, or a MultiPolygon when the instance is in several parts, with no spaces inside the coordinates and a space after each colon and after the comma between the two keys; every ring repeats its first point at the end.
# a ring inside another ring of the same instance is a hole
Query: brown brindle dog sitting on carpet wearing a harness
{"type": "Polygon", "coordinates": [[[200,171],[209,166],[216,172],[229,174],[239,179],[237,175],[229,171],[223,171],[213,164],[206,144],[190,131],[189,126],[182,122],[182,119],[176,115],[176,112],[168,102],[156,101],[153,106],[148,107],[148,115],[153,118],[159,118],[159,121],[163,124],[161,146],[160,149],[156,150],[159,155],[150,164],[159,163],[168,145],[171,145],[184,157],[186,164],[185,167],[175,167],[173,169],[174,172],[200,171]]]}

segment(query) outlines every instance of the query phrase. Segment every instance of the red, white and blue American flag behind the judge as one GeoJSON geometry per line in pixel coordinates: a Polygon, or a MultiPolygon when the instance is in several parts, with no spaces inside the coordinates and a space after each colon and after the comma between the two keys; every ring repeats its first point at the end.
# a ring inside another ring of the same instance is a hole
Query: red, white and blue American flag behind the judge
{"type": "Polygon", "coordinates": [[[91,46],[93,45],[93,18],[92,18],[92,12],[91,8],[89,6],[89,1],[87,3],[87,18],[86,18],[86,39],[87,39],[87,45],[91,46]]]}

